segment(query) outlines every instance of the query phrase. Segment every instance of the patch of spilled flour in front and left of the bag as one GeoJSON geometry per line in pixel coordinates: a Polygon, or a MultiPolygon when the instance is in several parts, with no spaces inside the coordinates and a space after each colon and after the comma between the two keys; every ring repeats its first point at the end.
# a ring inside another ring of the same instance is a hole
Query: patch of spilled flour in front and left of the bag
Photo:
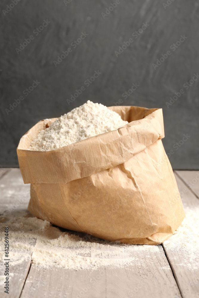
{"type": "Polygon", "coordinates": [[[18,262],[17,253],[21,253],[27,258],[32,255],[32,263],[43,268],[92,270],[109,265],[138,265],[140,258],[135,254],[138,250],[159,252],[158,246],[113,243],[84,233],[59,229],[48,221],[22,213],[15,212],[0,218],[1,235],[4,227],[9,227],[10,259],[13,265],[18,262]]]}

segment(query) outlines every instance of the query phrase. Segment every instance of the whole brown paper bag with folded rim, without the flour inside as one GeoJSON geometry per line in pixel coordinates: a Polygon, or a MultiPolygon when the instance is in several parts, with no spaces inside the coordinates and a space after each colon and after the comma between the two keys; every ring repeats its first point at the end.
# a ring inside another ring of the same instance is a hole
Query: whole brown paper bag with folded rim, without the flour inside
{"type": "Polygon", "coordinates": [[[24,136],[18,161],[31,183],[28,210],[36,217],[109,241],[160,244],[185,217],[161,139],[162,109],[114,106],[129,123],[52,151],[29,150],[41,129],[24,136]]]}

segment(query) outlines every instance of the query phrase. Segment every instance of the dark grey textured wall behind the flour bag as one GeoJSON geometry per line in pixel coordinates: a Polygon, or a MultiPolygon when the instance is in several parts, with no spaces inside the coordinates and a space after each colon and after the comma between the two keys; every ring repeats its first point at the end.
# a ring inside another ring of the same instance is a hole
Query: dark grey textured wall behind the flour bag
{"type": "Polygon", "coordinates": [[[0,4],[1,166],[18,166],[19,139],[39,120],[58,117],[88,99],[107,106],[121,99],[121,105],[163,108],[163,144],[166,153],[173,150],[172,167],[199,169],[199,78],[186,84],[199,72],[198,1],[117,0],[110,13],[106,8],[115,0],[13,1],[0,4]],[[40,27],[43,23],[46,27],[40,27]],[[145,30],[137,35],[143,23],[145,30]],[[80,37],[81,43],[71,45],[80,37]],[[29,43],[20,49],[25,38],[29,43]],[[116,55],[129,38],[133,42],[116,55]],[[53,62],[68,48],[66,58],[53,62]],[[84,84],[95,71],[101,74],[90,86],[84,84]],[[40,83],[29,89],[34,80],[40,83]],[[133,83],[139,87],[125,96],[133,83]],[[67,102],[81,86],[82,94],[67,102]]]}

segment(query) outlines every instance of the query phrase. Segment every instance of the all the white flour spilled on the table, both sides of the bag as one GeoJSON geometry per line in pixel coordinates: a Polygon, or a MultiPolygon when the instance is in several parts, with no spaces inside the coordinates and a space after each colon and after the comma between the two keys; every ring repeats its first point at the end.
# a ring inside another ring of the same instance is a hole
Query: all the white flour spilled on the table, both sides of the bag
{"type": "MultiPolygon", "coordinates": [[[[164,246],[174,251],[176,256],[179,252],[184,254],[183,266],[194,270],[199,267],[199,208],[186,208],[185,212],[182,225],[176,234],[164,242],[164,246]]],[[[0,217],[1,235],[5,226],[9,227],[9,256],[13,265],[31,257],[38,268],[93,270],[109,265],[139,266],[141,251],[159,251],[158,246],[113,243],[84,233],[59,229],[27,211],[5,213],[4,217],[0,217]]],[[[3,257],[4,253],[0,255],[3,257]]]]}

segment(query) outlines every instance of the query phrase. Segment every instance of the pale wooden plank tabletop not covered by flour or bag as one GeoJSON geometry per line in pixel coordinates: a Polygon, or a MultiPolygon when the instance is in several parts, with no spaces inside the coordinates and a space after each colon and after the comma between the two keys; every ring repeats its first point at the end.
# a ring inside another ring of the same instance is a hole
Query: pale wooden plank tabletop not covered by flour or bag
{"type": "MultiPolygon", "coordinates": [[[[178,188],[183,193],[183,204],[190,208],[199,207],[198,173],[175,171],[178,188]],[[189,181],[192,181],[192,184],[189,181]]],[[[18,168],[0,169],[1,215],[19,198],[22,198],[20,208],[27,209],[29,187],[24,185],[18,168]]],[[[163,243],[156,251],[137,250],[135,256],[140,260],[137,265],[115,269],[102,267],[94,271],[38,271],[35,265],[31,264],[30,256],[18,265],[12,267],[11,264],[10,294],[4,293],[1,283],[0,297],[199,297],[199,269],[183,266],[186,255],[181,254],[180,250],[174,253],[163,243]],[[91,283],[91,280],[95,280],[95,283],[91,283]]],[[[195,261],[197,263],[199,260],[195,261]]],[[[0,268],[2,275],[2,262],[0,268]]],[[[4,276],[1,276],[1,280],[3,279],[4,276]]]]}

